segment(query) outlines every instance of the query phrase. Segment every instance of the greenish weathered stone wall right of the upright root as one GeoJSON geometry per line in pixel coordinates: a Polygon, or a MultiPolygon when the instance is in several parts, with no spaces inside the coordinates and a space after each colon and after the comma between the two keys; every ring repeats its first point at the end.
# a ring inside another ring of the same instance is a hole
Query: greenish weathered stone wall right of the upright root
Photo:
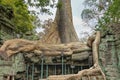
{"type": "Polygon", "coordinates": [[[110,24],[99,46],[99,62],[107,80],[120,80],[120,24],[110,24]]]}

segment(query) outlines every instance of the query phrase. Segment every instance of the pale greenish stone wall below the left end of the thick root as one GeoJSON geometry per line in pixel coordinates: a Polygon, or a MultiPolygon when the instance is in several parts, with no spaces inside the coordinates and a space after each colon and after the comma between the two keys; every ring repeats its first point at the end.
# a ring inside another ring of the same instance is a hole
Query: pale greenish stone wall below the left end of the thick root
{"type": "MultiPolygon", "coordinates": [[[[18,73],[20,74],[24,71],[25,61],[22,53],[12,56],[9,61],[0,59],[0,80],[6,80],[7,76],[18,78],[18,73]]],[[[23,76],[20,74],[19,78],[23,78],[23,76]]]]}

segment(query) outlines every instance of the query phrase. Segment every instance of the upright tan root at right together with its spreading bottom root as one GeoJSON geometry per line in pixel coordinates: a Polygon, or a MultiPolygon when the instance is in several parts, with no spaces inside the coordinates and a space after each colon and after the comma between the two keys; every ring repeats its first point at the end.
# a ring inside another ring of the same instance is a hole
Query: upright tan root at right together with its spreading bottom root
{"type": "Polygon", "coordinates": [[[55,79],[58,79],[58,80],[82,80],[82,77],[88,76],[88,80],[91,80],[90,76],[101,75],[103,77],[101,80],[106,80],[106,76],[103,73],[103,71],[100,68],[99,63],[98,63],[98,46],[100,43],[100,31],[96,32],[94,41],[91,41],[91,42],[92,42],[92,53],[93,53],[94,65],[90,69],[84,69],[82,71],[79,71],[78,74],[60,76],[61,79],[59,79],[60,77],[57,75],[49,76],[48,79],[49,80],[55,80],[55,79]],[[64,77],[64,78],[62,78],[62,77],[64,77]]]}

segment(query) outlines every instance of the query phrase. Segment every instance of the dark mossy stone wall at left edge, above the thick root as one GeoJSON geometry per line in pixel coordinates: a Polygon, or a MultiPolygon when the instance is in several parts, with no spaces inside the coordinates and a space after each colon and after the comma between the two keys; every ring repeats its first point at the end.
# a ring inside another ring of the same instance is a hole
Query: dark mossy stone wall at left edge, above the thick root
{"type": "Polygon", "coordinates": [[[15,36],[14,25],[11,21],[12,18],[13,10],[0,5],[0,44],[4,40],[12,39],[15,36]]]}

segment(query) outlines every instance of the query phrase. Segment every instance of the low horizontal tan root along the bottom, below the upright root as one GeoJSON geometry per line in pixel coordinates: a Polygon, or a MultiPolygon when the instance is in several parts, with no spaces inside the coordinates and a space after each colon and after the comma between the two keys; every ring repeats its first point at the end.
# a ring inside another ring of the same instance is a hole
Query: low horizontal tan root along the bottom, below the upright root
{"type": "Polygon", "coordinates": [[[47,80],[82,80],[83,77],[86,77],[87,80],[91,80],[91,76],[101,76],[101,80],[106,80],[103,73],[101,73],[100,68],[94,69],[84,69],[78,74],[68,74],[68,75],[52,75],[47,78],[47,80]]]}

